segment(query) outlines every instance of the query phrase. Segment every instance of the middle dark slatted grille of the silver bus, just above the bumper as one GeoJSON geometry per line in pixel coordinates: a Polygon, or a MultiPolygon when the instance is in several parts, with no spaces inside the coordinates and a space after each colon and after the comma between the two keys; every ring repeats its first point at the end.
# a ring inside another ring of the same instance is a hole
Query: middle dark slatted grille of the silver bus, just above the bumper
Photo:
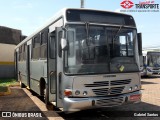
{"type": "Polygon", "coordinates": [[[124,89],[124,86],[122,86],[122,87],[112,87],[112,88],[92,89],[92,91],[98,96],[106,96],[106,95],[121,94],[123,89],[124,89]]]}

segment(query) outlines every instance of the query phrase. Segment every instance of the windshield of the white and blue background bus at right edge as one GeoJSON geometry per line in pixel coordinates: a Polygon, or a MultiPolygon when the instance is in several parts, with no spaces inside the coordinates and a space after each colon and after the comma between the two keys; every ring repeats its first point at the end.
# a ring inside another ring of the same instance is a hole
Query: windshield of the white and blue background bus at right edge
{"type": "Polygon", "coordinates": [[[160,52],[148,53],[148,66],[160,67],[160,52]]]}

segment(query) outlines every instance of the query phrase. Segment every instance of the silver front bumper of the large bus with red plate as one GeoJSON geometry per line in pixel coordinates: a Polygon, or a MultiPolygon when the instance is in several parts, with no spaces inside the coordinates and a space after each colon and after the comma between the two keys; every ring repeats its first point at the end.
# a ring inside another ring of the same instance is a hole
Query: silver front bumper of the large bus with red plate
{"type": "Polygon", "coordinates": [[[64,98],[64,111],[79,111],[83,109],[114,107],[123,104],[139,103],[141,92],[136,91],[114,97],[64,98]]]}

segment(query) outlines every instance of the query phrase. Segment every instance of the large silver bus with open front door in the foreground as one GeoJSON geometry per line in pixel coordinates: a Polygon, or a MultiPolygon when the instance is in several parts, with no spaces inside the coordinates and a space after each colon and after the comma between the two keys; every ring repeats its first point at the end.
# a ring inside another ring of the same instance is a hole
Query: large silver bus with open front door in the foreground
{"type": "Polygon", "coordinates": [[[141,101],[141,33],[134,18],[65,8],[15,48],[21,87],[63,111],[141,101]]]}

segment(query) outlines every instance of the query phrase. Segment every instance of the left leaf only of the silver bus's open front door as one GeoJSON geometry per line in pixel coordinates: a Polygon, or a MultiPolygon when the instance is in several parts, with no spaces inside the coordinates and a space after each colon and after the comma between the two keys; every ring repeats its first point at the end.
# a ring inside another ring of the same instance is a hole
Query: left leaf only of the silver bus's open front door
{"type": "Polygon", "coordinates": [[[56,103],[56,38],[55,31],[49,33],[48,37],[48,57],[47,57],[47,86],[46,86],[46,96],[48,100],[45,102],[56,103]]]}

